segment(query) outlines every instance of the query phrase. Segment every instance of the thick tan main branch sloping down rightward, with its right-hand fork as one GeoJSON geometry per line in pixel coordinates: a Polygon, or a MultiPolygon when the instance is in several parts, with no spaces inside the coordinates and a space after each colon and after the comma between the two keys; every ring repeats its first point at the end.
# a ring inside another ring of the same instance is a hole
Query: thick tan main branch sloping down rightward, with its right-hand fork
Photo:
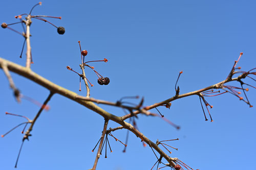
{"type": "MultiPolygon", "coordinates": [[[[68,89],[65,89],[61,86],[58,86],[54,83],[52,83],[51,81],[37,75],[35,72],[33,72],[31,69],[20,66],[18,64],[15,64],[13,62],[10,62],[8,60],[5,60],[3,58],[0,58],[0,67],[2,68],[2,64],[6,62],[7,67],[10,71],[16,72],[17,74],[26,77],[30,80],[32,80],[33,82],[49,89],[50,91],[52,91],[53,93],[58,93],[60,95],[63,95],[77,103],[80,103],[81,105],[91,109],[92,111],[95,111],[96,113],[100,114],[101,116],[103,116],[106,119],[110,119],[113,120],[114,122],[120,124],[121,126],[123,126],[125,129],[130,130],[131,132],[133,132],[136,136],[138,136],[141,140],[143,140],[144,142],[146,142],[148,145],[150,145],[152,148],[154,148],[161,156],[163,156],[168,163],[170,164],[170,166],[175,166],[176,164],[174,163],[175,160],[177,160],[176,158],[171,158],[168,155],[166,155],[158,146],[156,143],[152,142],[150,139],[148,139],[146,136],[144,136],[141,132],[139,132],[135,127],[133,127],[131,124],[124,122],[124,118],[129,118],[131,116],[129,116],[129,114],[127,114],[126,116],[123,117],[118,117],[116,115],[113,115],[109,112],[106,112],[105,110],[103,110],[102,108],[98,107],[97,105],[95,105],[93,102],[90,101],[86,101],[86,100],[81,100],[81,99],[77,99],[77,96],[79,96],[77,93],[70,91],[68,89]]],[[[244,75],[241,75],[237,78],[233,78],[231,80],[228,81],[237,81],[240,79],[245,78],[244,75]]],[[[173,98],[167,99],[165,101],[162,101],[160,103],[156,103],[154,105],[151,105],[147,108],[145,108],[145,110],[149,110],[152,108],[155,108],[157,106],[169,103],[171,101],[174,101],[176,99],[180,99],[180,98],[184,98],[186,96],[190,96],[190,95],[195,95],[195,94],[199,94],[200,92],[203,92],[205,90],[209,90],[212,88],[221,88],[219,85],[228,82],[227,80],[224,80],[220,83],[217,83],[215,85],[203,88],[201,90],[197,90],[194,92],[189,92],[189,93],[185,93],[185,94],[181,94],[178,96],[174,96],[173,98]]],[[[135,113],[139,113],[139,111],[135,111],[135,113]]]]}

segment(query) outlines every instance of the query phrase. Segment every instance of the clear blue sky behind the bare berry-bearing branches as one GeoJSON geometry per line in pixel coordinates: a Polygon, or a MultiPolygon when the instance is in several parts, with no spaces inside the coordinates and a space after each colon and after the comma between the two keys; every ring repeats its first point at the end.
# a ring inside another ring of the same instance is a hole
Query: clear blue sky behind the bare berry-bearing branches
{"type": "MultiPolygon", "coordinates": [[[[1,1],[0,22],[12,23],[15,15],[29,13],[37,1],[1,1]]],[[[88,51],[86,60],[102,60],[92,66],[104,77],[108,86],[97,84],[97,77],[86,69],[94,84],[91,96],[116,102],[122,96],[144,96],[144,105],[152,105],[180,93],[198,90],[225,80],[234,60],[244,71],[256,67],[256,3],[255,1],[42,1],[32,15],[61,16],[49,21],[65,27],[64,35],[40,20],[31,25],[32,70],[69,90],[86,95],[79,77],[67,70],[69,65],[80,72],[80,52],[88,51]]],[[[12,27],[22,32],[20,25],[12,27]]],[[[8,29],[0,29],[0,57],[25,65],[20,59],[24,38],[8,29]]],[[[12,74],[15,85],[24,94],[44,102],[49,91],[30,80],[12,74]]],[[[254,77],[255,78],[255,77],[254,77]]],[[[0,134],[24,121],[5,112],[33,118],[38,107],[23,100],[17,104],[8,81],[0,70],[0,134]]],[[[256,82],[245,80],[255,86],[256,82]]],[[[240,86],[238,83],[229,85],[240,86]]],[[[256,90],[249,87],[249,101],[254,107],[231,94],[206,98],[214,122],[205,121],[198,96],[172,102],[168,110],[159,110],[175,124],[176,130],[158,117],[140,115],[139,130],[152,141],[167,142],[171,157],[178,157],[194,169],[254,169],[256,160],[255,107],[256,90]]],[[[139,103],[138,100],[128,100],[139,103]]],[[[96,153],[92,153],[103,129],[103,118],[81,105],[56,94],[36,122],[29,141],[24,143],[18,169],[89,169],[96,153]]],[[[102,106],[121,116],[119,108],[102,106]]],[[[155,109],[152,112],[157,113],[155,109]]],[[[208,116],[208,115],[207,115],[208,116]]],[[[111,122],[109,127],[118,125],[111,122]]],[[[108,127],[108,128],[109,128],[108,127]]],[[[22,127],[0,139],[0,169],[14,169],[23,138],[22,127]]],[[[125,141],[126,130],[112,133],[125,141]]],[[[110,137],[113,153],[99,159],[97,169],[151,169],[157,161],[150,147],[130,133],[126,153],[123,145],[110,137]]],[[[162,148],[164,150],[164,148],[162,148]]],[[[160,166],[161,167],[161,166],[160,166]]],[[[155,167],[156,169],[156,167],[155,167]]],[[[168,169],[168,168],[165,168],[168,169]]]]}

